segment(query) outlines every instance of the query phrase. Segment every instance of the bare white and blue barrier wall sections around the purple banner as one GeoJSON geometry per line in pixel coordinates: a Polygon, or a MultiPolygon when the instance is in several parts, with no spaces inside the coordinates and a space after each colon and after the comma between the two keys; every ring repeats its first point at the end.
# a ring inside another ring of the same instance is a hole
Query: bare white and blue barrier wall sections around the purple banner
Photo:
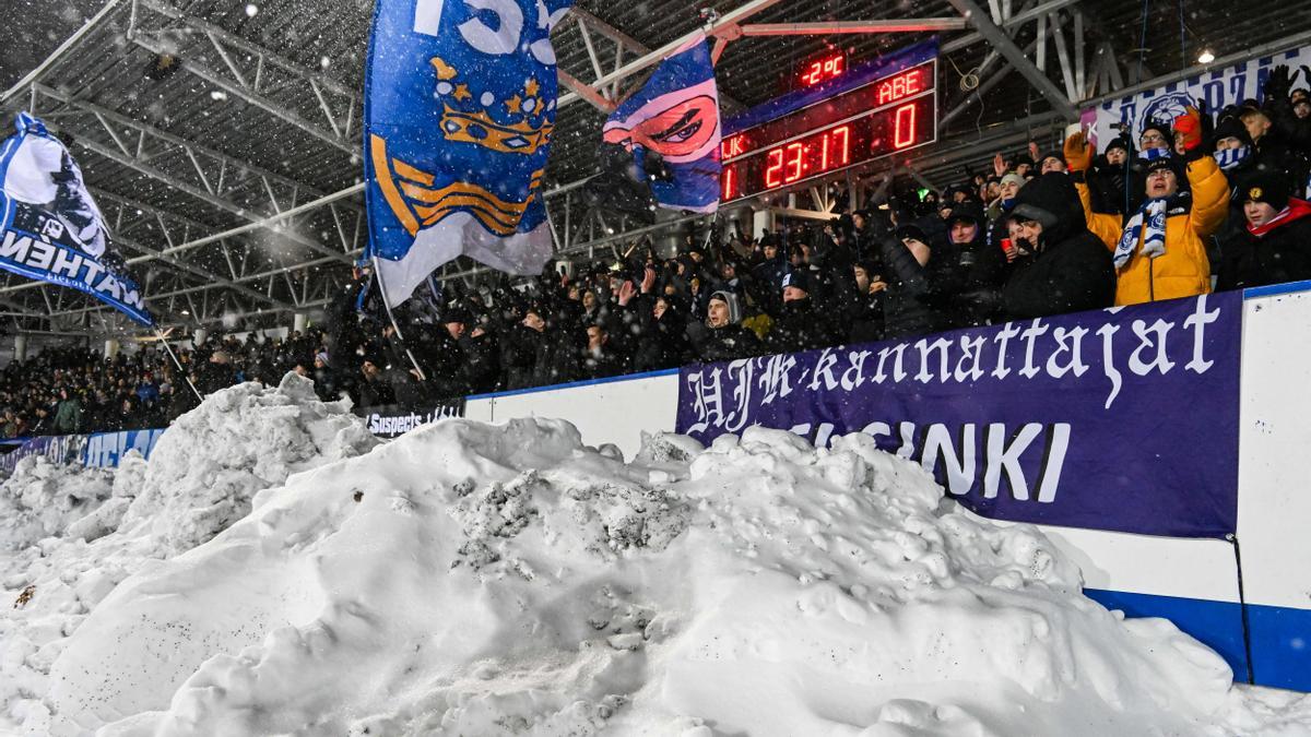
{"type": "MultiPolygon", "coordinates": [[[[1125,315],[1131,317],[1131,311],[1125,315]]],[[[1091,598],[1127,616],[1172,620],[1221,653],[1238,681],[1301,691],[1311,691],[1311,475],[1303,460],[1311,445],[1308,327],[1311,282],[1244,294],[1236,540],[1037,525],[1082,567],[1091,598]]],[[[678,392],[679,372],[669,370],[476,395],[464,401],[463,416],[485,422],[558,417],[577,425],[583,442],[614,443],[632,458],[642,433],[675,430],[678,392]]],[[[451,413],[426,410],[433,418],[451,413]]],[[[148,455],[161,433],[29,438],[0,456],[0,467],[12,469],[20,452],[115,466],[131,448],[148,455]]]]}

